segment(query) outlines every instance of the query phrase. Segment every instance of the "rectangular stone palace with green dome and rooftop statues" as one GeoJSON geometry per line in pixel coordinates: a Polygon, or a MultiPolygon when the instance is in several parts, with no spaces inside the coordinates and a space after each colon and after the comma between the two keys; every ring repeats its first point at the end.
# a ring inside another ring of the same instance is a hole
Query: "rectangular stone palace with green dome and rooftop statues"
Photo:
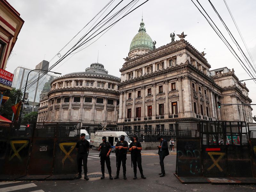
{"type": "Polygon", "coordinates": [[[140,23],[121,72],[118,126],[174,128],[177,121],[227,120],[252,122],[249,90],[234,70],[210,71],[204,52],[180,35],[179,41],[157,49],[140,23]],[[141,47],[141,48],[140,48],[141,47]],[[131,54],[133,53],[133,54],[131,54]],[[135,56],[136,53],[136,56],[135,56]]]}

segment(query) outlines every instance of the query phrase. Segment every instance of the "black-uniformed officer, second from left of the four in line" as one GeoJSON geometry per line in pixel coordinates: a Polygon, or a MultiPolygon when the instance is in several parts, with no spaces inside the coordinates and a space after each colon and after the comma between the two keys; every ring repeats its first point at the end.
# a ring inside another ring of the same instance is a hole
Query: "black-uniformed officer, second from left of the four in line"
{"type": "Polygon", "coordinates": [[[113,179],[111,176],[111,166],[110,166],[110,152],[111,152],[111,144],[107,141],[107,137],[102,137],[102,143],[100,143],[100,147],[98,148],[98,151],[100,151],[100,165],[101,165],[101,172],[102,172],[102,177],[100,179],[105,178],[105,161],[106,165],[108,168],[108,174],[109,174],[109,179],[113,179]]]}

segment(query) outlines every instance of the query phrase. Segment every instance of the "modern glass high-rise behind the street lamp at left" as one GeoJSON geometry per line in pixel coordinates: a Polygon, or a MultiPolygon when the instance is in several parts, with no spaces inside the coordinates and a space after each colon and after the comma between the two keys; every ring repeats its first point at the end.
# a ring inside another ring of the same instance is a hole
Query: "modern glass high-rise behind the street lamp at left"
{"type": "Polygon", "coordinates": [[[27,105],[24,105],[23,113],[21,114],[21,118],[32,112],[32,111],[38,111],[39,106],[39,100],[46,95],[51,90],[51,81],[57,77],[50,74],[44,75],[42,78],[40,78],[38,81],[37,78],[40,77],[44,71],[40,71],[40,69],[48,70],[49,62],[46,60],[43,60],[38,65],[36,65],[36,69],[39,69],[38,71],[32,71],[33,69],[29,69],[26,67],[17,67],[14,70],[14,76],[13,76],[13,83],[12,87],[16,89],[20,89],[22,92],[24,92],[24,88],[26,85],[27,77],[28,77],[28,85],[26,92],[28,92],[28,102],[26,102],[27,105]],[[29,76],[28,76],[29,73],[29,76]],[[34,84],[32,84],[34,81],[36,81],[34,84]]]}

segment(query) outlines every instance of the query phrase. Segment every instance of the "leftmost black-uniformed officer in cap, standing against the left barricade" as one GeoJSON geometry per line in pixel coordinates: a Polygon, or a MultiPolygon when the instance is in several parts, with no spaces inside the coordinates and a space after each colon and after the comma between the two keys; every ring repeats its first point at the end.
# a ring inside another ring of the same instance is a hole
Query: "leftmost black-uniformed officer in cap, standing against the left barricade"
{"type": "Polygon", "coordinates": [[[84,179],[89,180],[87,177],[87,157],[90,150],[90,143],[85,138],[85,134],[81,133],[80,140],[76,143],[76,151],[77,153],[77,167],[78,167],[78,176],[76,179],[80,179],[82,177],[82,161],[84,164],[84,179]]]}

